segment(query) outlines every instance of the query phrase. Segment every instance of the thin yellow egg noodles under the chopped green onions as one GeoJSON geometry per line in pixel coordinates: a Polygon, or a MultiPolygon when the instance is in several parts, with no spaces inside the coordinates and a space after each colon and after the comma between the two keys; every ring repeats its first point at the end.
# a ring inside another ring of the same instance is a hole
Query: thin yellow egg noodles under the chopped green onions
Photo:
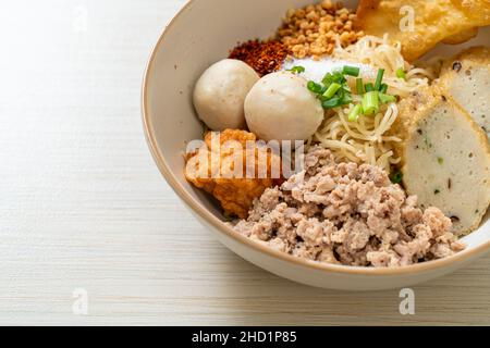
{"type": "MultiPolygon", "coordinates": [[[[384,69],[383,83],[389,86],[390,95],[407,97],[420,87],[428,86],[434,73],[430,69],[419,69],[407,63],[402,55],[401,45],[391,44],[383,38],[366,36],[354,45],[342,48],[338,41],[332,58],[363,63],[376,70],[384,69]],[[403,69],[405,79],[396,76],[403,69]]],[[[365,82],[373,82],[372,76],[362,76],[365,82]]],[[[355,103],[362,96],[353,95],[355,103]]],[[[395,158],[394,144],[401,139],[388,135],[399,116],[396,103],[381,105],[380,112],[373,116],[362,115],[357,122],[350,122],[348,114],[354,104],[335,108],[326,114],[326,120],[314,136],[314,141],[329,148],[339,161],[352,161],[378,165],[388,172],[393,164],[400,163],[395,158]]]]}

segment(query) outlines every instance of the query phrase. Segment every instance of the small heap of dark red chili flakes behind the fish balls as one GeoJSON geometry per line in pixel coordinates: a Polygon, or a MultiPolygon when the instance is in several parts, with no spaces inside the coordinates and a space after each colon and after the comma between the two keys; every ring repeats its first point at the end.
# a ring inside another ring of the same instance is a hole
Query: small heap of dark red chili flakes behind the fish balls
{"type": "Polygon", "coordinates": [[[230,59],[247,63],[257,74],[264,76],[280,70],[290,53],[290,50],[279,41],[252,40],[234,48],[230,59]]]}

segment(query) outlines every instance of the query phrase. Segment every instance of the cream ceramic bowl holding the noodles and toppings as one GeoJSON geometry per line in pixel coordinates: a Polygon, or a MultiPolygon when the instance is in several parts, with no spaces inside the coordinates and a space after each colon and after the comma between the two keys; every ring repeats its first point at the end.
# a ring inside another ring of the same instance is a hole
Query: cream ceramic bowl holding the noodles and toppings
{"type": "MultiPolygon", "coordinates": [[[[376,290],[411,286],[461,269],[490,249],[490,222],[466,237],[468,248],[451,258],[399,269],[317,263],[260,246],[228,227],[219,207],[184,178],[186,142],[200,139],[203,127],[193,103],[193,87],[210,64],[225,58],[238,41],[267,38],[290,8],[311,0],[192,0],[167,26],[148,63],[143,87],[143,122],[161,173],[194,215],[228,248],[285,278],[332,289],[376,290]]],[[[351,8],[357,1],[344,1],[351,8]]],[[[488,42],[488,28],[464,46],[438,48],[454,53],[488,42]]]]}

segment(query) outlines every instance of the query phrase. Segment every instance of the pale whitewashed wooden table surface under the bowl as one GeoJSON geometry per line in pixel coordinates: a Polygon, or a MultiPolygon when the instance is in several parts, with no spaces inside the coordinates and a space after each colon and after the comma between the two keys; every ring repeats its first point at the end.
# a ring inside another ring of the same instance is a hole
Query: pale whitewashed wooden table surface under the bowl
{"type": "Polygon", "coordinates": [[[490,324],[490,257],[415,287],[404,316],[399,290],[291,283],[197,223],[139,115],[150,49],[183,3],[0,7],[0,324],[490,324]]]}

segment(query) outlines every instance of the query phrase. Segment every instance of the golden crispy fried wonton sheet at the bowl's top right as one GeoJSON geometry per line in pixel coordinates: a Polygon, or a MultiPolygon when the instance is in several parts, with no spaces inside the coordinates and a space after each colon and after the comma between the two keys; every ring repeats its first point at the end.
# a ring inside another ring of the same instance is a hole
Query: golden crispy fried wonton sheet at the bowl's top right
{"type": "Polygon", "coordinates": [[[413,62],[440,41],[458,44],[475,36],[478,27],[490,25],[490,0],[360,0],[356,25],[367,35],[388,33],[413,62]],[[411,9],[414,30],[402,30],[411,9]]]}

